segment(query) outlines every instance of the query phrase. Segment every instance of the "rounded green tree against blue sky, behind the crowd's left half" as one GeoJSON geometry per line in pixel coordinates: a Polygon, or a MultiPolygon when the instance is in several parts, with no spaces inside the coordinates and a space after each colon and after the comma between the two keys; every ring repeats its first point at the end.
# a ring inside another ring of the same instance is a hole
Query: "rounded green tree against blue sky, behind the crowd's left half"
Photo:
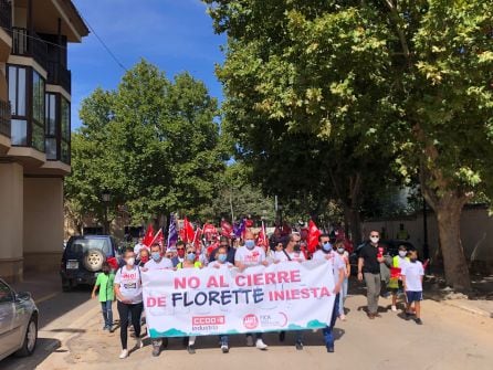
{"type": "Polygon", "coordinates": [[[188,73],[169,81],[140,61],[116,91],[83,102],[67,198],[94,212],[104,188],[112,209],[126,204],[135,224],[170,211],[197,214],[224,166],[216,116],[202,82],[188,73]]]}

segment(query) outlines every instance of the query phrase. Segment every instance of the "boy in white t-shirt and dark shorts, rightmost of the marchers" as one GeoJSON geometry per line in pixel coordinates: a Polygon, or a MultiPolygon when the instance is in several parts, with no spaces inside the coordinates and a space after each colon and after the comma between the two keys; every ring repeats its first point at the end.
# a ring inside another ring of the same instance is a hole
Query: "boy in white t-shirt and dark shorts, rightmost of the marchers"
{"type": "Polygon", "coordinates": [[[402,285],[406,292],[406,318],[411,317],[411,305],[415,303],[416,324],[422,325],[421,321],[421,300],[423,299],[422,281],[424,276],[424,268],[421,262],[418,261],[418,252],[409,252],[409,262],[402,266],[401,276],[402,285]]]}

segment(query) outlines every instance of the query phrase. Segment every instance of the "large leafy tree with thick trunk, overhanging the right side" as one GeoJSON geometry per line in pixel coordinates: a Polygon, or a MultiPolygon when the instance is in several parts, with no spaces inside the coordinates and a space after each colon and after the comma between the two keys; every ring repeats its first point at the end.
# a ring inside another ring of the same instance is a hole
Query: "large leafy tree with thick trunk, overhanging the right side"
{"type": "Polygon", "coordinates": [[[459,289],[462,207],[493,191],[492,1],[206,1],[229,35],[218,75],[239,142],[260,127],[335,147],[357,138],[355,159],[381,148],[402,176],[419,171],[459,289]]]}

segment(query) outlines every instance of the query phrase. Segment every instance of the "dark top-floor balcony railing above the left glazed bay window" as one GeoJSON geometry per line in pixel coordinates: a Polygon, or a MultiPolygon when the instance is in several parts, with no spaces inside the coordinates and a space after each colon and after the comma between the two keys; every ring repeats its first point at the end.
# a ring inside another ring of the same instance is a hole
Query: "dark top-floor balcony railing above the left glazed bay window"
{"type": "Polygon", "coordinates": [[[31,56],[44,70],[48,70],[48,47],[43,40],[28,29],[12,27],[12,54],[31,56]]]}

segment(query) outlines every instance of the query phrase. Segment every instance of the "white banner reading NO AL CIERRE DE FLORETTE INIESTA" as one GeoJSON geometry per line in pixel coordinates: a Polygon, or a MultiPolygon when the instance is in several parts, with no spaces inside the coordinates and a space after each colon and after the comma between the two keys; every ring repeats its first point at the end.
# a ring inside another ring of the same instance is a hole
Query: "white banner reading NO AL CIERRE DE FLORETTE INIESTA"
{"type": "Polygon", "coordinates": [[[151,338],[324,328],[334,307],[332,264],[204,267],[141,273],[151,338]]]}

